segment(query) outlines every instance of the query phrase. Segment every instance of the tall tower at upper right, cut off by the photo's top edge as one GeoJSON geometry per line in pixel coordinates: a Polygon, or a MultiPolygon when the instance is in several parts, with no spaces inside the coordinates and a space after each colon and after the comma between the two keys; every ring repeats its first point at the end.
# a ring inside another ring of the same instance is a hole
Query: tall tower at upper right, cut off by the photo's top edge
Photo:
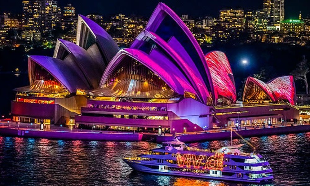
{"type": "Polygon", "coordinates": [[[284,20],[284,0],[264,0],[263,10],[270,25],[280,25],[280,21],[284,20]]]}

